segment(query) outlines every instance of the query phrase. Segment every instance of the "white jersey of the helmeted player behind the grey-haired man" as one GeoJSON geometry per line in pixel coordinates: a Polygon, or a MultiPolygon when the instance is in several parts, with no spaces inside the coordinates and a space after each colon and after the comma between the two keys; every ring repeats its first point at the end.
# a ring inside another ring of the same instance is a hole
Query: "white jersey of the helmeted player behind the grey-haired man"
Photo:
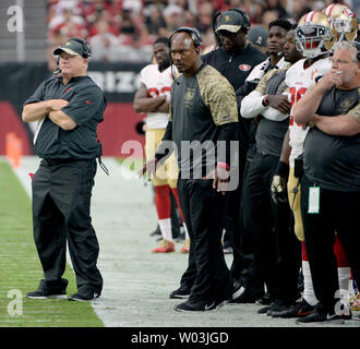
{"type": "Polygon", "coordinates": [[[289,87],[291,95],[290,111],[290,167],[293,167],[293,159],[303,152],[303,142],[305,140],[309,128],[293,121],[292,109],[295,104],[307,93],[308,88],[315,83],[317,76],[324,75],[332,69],[329,58],[323,58],[304,68],[305,59],[301,59],[292,64],[286,73],[285,82],[289,87]]]}

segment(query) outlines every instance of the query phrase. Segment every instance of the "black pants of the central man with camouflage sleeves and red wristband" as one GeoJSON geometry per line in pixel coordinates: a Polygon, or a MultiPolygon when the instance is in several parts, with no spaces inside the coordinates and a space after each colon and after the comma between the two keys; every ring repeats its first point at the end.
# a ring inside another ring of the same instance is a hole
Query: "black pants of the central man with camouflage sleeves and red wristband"
{"type": "Polygon", "coordinates": [[[230,299],[232,291],[221,245],[227,196],[212,185],[212,180],[178,180],[191,240],[189,264],[180,284],[191,289],[190,301],[230,299]]]}

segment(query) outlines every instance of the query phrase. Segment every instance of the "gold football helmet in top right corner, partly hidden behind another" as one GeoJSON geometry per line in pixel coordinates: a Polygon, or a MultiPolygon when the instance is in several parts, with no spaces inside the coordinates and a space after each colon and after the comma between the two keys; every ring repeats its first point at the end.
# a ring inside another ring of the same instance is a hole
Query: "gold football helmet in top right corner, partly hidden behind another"
{"type": "Polygon", "coordinates": [[[353,41],[358,31],[358,17],[352,10],[341,3],[332,3],[323,11],[337,32],[337,40],[353,41]]]}

